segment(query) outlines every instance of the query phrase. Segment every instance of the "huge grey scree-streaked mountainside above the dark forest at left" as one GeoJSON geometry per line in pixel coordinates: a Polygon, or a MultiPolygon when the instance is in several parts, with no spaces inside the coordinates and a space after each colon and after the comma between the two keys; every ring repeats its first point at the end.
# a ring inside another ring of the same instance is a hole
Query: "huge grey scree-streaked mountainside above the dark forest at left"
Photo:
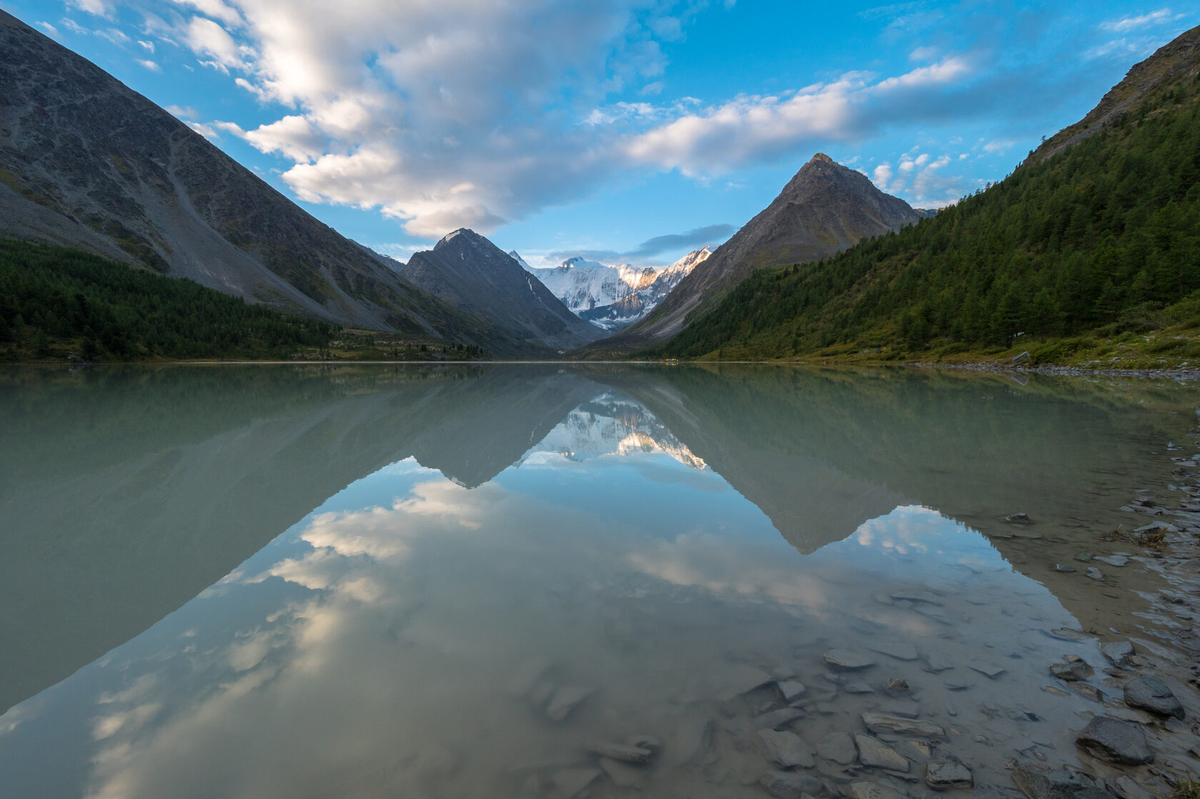
{"type": "Polygon", "coordinates": [[[486,344],[166,110],[0,11],[0,235],[350,326],[486,344]]]}

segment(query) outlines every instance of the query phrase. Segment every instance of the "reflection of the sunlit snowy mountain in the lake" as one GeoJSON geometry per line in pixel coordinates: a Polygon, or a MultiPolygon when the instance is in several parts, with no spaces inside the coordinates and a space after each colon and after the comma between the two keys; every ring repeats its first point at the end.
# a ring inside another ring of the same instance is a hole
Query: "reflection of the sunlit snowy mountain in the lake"
{"type": "Polygon", "coordinates": [[[602,394],[566,414],[526,453],[523,461],[536,452],[552,452],[569,461],[661,452],[690,469],[706,468],[704,461],[694,455],[654,414],[613,392],[602,394]]]}

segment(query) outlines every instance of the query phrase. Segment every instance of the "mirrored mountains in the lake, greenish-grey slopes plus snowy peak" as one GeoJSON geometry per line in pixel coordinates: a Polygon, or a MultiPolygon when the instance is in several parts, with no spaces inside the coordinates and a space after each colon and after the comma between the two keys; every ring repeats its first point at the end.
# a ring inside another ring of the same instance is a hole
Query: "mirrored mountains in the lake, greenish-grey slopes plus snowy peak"
{"type": "Polygon", "coordinates": [[[1111,529],[1109,509],[1152,473],[1147,441],[1182,434],[1182,402],[1162,384],[778,367],[4,372],[0,641],[22,656],[0,665],[0,708],[408,457],[475,488],[538,452],[661,452],[722,476],[802,553],[919,504],[1045,582],[1049,555],[1003,537],[1003,516],[1030,513],[1045,540],[1111,529]]]}

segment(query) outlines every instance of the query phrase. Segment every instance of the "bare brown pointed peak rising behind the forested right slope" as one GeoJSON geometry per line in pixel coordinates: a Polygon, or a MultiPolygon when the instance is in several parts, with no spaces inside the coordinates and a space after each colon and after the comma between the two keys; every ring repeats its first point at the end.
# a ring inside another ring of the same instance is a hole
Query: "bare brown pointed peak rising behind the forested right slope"
{"type": "Polygon", "coordinates": [[[654,312],[604,346],[628,349],[662,341],[682,330],[694,311],[710,307],[757,269],[818,260],[862,239],[913,224],[920,216],[902,199],[876,188],[866,175],[818,152],[654,312]]]}

